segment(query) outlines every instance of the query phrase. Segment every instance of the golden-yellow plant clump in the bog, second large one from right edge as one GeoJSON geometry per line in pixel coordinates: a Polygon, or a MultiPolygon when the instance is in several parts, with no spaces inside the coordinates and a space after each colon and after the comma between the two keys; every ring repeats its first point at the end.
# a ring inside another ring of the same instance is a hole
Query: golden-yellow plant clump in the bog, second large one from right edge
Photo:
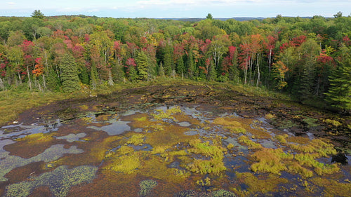
{"type": "Polygon", "coordinates": [[[283,163],[285,159],[293,159],[293,155],[286,154],[282,149],[263,148],[252,155],[258,163],[251,165],[253,172],[270,172],[280,175],[280,172],[287,170],[283,163]]]}

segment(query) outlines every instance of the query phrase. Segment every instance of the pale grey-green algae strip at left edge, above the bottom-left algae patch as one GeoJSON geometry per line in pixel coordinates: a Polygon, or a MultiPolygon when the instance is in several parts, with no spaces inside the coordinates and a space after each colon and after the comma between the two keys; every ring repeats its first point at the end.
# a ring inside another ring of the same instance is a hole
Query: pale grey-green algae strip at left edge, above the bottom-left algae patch
{"type": "Polygon", "coordinates": [[[0,182],[6,181],[7,179],[4,177],[4,175],[6,175],[14,168],[25,166],[29,163],[38,161],[51,162],[58,160],[58,158],[62,157],[64,154],[80,154],[82,152],[84,151],[77,149],[75,146],[69,147],[69,149],[65,149],[63,144],[53,145],[50,148],[46,149],[43,153],[32,158],[11,156],[7,151],[0,151],[0,158],[3,158],[0,160],[0,182]]]}

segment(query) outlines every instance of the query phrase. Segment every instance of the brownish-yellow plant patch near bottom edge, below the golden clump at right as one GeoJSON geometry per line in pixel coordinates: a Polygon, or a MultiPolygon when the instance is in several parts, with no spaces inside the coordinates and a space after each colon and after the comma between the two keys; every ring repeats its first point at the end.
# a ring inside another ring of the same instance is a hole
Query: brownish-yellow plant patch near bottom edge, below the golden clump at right
{"type": "MultiPolygon", "coordinates": [[[[277,175],[271,175],[271,174],[268,175],[268,177],[258,178],[255,175],[251,174],[250,172],[237,173],[237,178],[242,182],[244,182],[247,186],[249,186],[248,191],[250,194],[255,194],[258,192],[267,193],[270,191],[277,191],[279,184],[284,184],[289,182],[287,179],[280,178],[277,175]]],[[[249,193],[240,192],[237,189],[234,189],[234,190],[236,190],[237,193],[241,195],[246,194],[247,196],[249,194],[249,193]]]]}

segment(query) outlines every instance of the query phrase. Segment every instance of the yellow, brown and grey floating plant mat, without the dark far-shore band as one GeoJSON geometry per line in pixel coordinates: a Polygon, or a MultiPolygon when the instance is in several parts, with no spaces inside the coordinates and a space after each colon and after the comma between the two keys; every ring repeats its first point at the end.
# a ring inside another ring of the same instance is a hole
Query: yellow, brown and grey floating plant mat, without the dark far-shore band
{"type": "Polygon", "coordinates": [[[0,196],[350,196],[350,155],[330,140],[294,135],[291,120],[270,125],[272,114],[205,109],[105,109],[4,126],[0,196]]]}

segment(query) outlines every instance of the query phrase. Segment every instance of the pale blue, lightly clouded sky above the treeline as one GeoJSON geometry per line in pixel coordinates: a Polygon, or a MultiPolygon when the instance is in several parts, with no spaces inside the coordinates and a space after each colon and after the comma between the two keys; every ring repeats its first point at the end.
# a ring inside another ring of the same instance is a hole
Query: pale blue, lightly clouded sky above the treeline
{"type": "Polygon", "coordinates": [[[213,18],[351,15],[350,0],[0,0],[0,15],[96,15],[112,18],[213,18]]]}

